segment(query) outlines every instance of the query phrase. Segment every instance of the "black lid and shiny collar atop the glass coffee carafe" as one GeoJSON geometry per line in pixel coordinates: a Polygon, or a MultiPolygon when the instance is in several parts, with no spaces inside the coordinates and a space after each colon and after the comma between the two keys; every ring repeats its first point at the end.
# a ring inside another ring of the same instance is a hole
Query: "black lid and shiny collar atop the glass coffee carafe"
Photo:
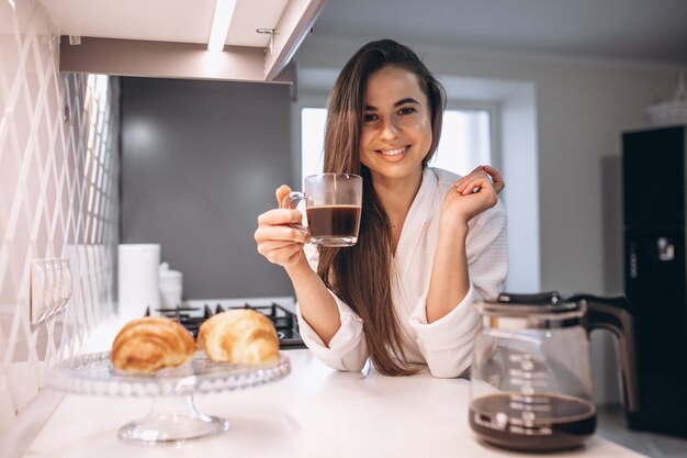
{"type": "Polygon", "coordinates": [[[548,328],[581,324],[586,312],[584,301],[566,299],[558,291],[537,294],[502,293],[496,301],[476,302],[474,306],[487,327],[548,328]]]}

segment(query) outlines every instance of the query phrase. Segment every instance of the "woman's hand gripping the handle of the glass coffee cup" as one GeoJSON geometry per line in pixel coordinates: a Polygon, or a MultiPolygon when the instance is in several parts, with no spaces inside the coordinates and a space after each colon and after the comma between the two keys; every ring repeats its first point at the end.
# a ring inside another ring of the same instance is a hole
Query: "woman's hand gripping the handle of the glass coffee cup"
{"type": "Polygon", "coordinates": [[[303,215],[295,209],[284,209],[282,202],[291,192],[288,186],[277,189],[279,209],[273,209],[258,216],[255,238],[258,253],[270,262],[289,267],[303,255],[303,245],[308,242],[307,234],[299,231],[294,224],[301,224],[303,215]]]}

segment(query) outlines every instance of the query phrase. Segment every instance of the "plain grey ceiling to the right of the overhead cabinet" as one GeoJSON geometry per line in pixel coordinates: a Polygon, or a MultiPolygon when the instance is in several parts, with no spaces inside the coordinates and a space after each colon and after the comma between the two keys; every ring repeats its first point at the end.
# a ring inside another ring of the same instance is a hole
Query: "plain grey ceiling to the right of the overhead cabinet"
{"type": "Polygon", "coordinates": [[[687,66],[687,1],[329,0],[327,36],[687,66]]]}

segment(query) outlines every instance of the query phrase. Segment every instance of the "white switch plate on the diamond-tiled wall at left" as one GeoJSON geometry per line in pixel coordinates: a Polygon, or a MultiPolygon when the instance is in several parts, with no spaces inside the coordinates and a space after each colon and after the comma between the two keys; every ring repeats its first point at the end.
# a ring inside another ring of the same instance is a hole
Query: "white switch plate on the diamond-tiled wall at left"
{"type": "Polygon", "coordinates": [[[68,259],[36,259],[31,264],[31,323],[59,312],[71,298],[68,259]]]}

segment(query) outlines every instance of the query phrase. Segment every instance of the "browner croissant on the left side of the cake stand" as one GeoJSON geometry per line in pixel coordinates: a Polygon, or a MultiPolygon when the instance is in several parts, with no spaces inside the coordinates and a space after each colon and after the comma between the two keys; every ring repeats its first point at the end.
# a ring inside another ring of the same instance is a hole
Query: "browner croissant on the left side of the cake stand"
{"type": "Polygon", "coordinates": [[[153,372],[181,366],[195,353],[193,336],[164,316],[146,316],[124,325],[112,343],[112,366],[131,372],[153,372]]]}

